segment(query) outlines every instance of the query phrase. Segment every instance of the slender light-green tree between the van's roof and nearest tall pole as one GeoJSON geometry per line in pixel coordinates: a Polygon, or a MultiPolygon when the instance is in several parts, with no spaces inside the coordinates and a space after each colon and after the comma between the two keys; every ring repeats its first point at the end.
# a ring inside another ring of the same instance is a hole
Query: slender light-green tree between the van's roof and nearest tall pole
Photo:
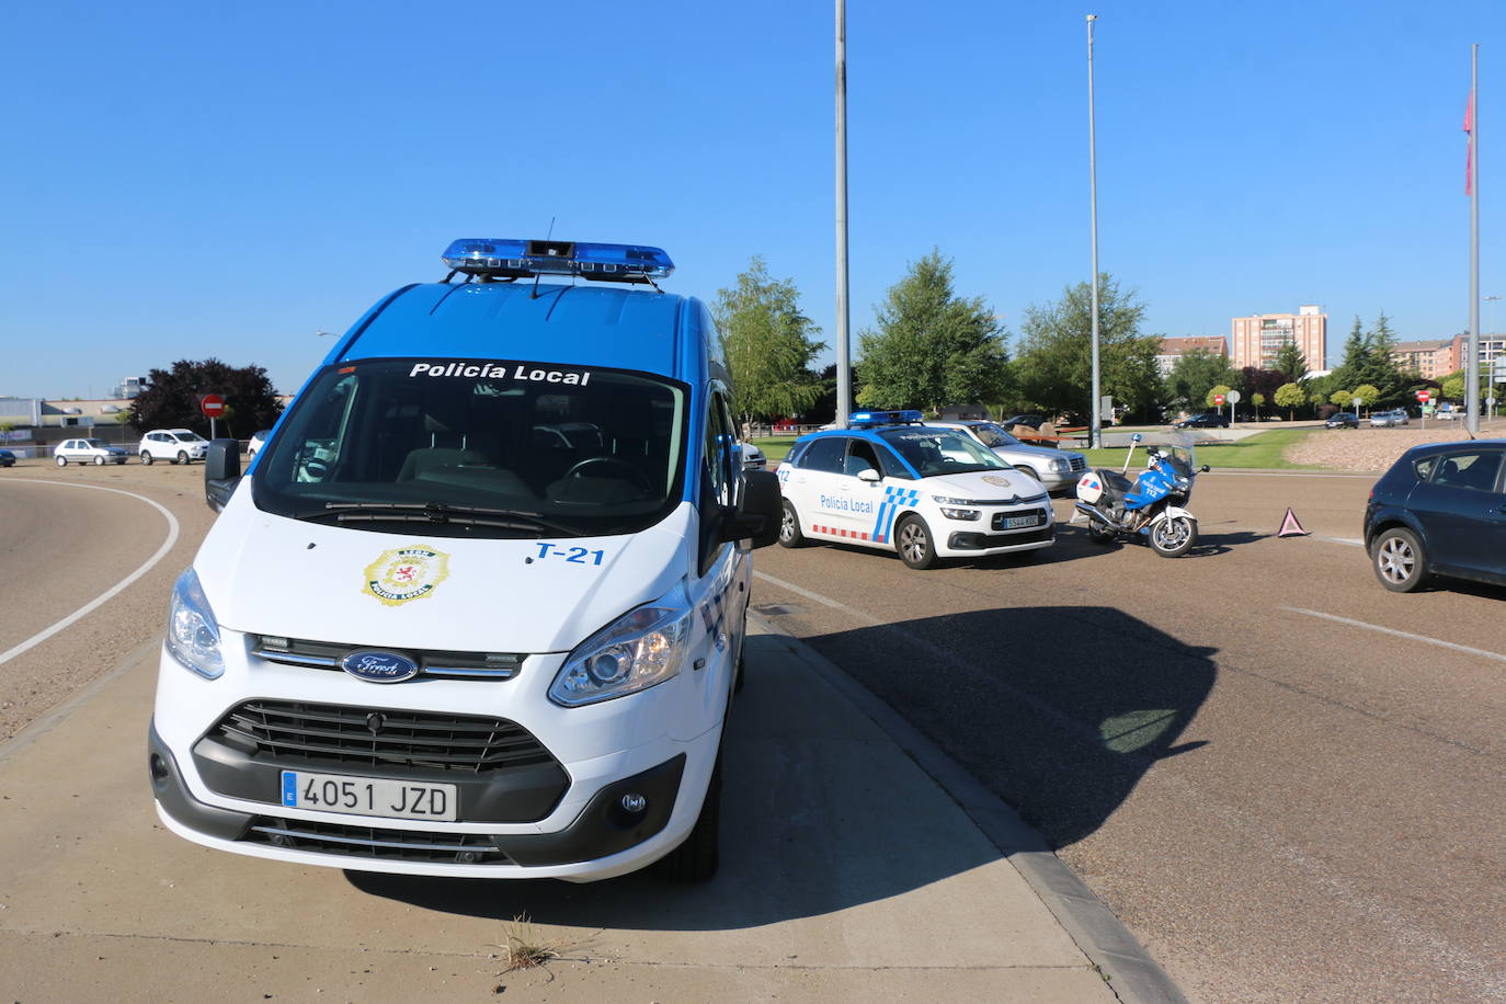
{"type": "Polygon", "coordinates": [[[810,361],[825,345],[810,337],[821,328],[800,312],[792,280],[771,278],[764,259],[753,256],[730,289],[717,291],[711,313],[732,375],[732,409],[744,423],[816,403],[822,385],[810,361]]]}

